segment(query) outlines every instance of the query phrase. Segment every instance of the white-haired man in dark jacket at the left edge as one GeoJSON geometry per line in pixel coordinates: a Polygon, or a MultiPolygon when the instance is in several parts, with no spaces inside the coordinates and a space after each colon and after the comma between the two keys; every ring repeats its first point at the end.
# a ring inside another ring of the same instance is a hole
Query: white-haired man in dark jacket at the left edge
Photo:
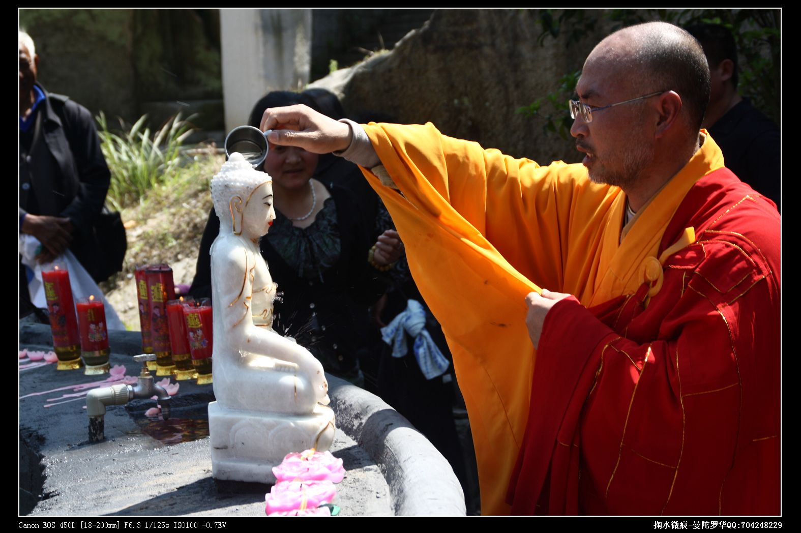
{"type": "MultiPolygon", "coordinates": [[[[42,243],[39,262],[70,249],[95,280],[103,277],[94,223],[108,170],[91,113],[36,83],[34,42],[19,32],[19,229],[42,243]]],[[[20,293],[27,280],[20,267],[20,293]]],[[[21,304],[22,305],[22,304],[21,304]]]]}

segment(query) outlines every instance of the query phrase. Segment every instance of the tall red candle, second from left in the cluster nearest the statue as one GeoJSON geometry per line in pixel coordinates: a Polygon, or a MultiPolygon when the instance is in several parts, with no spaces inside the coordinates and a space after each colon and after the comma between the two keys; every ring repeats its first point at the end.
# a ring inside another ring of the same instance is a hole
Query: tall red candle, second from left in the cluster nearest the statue
{"type": "Polygon", "coordinates": [[[150,301],[151,339],[155,352],[157,376],[169,376],[175,371],[171,357],[170,328],[167,324],[167,301],[175,300],[172,269],[167,264],[147,267],[147,297],[150,301]]]}

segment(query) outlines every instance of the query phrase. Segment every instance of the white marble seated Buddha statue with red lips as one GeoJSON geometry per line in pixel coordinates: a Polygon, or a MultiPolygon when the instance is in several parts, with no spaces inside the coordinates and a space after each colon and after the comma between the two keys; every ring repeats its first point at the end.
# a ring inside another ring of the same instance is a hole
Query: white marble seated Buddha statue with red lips
{"type": "Polygon", "coordinates": [[[326,450],[333,413],[323,366],[272,329],[276,283],[259,240],[275,219],[272,180],[234,153],[211,180],[219,236],[211,245],[214,477],[272,483],[285,454],[326,450]]]}

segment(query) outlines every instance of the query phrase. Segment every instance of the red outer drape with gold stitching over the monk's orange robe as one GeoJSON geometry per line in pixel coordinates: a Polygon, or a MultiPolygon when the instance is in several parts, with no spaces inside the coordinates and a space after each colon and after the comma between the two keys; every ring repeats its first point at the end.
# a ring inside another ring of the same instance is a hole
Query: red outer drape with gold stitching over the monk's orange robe
{"type": "Polygon", "coordinates": [[[548,313],[513,514],[780,512],[779,215],[723,168],[690,189],[659,253],[690,226],[647,307],[643,284],[548,313]]]}

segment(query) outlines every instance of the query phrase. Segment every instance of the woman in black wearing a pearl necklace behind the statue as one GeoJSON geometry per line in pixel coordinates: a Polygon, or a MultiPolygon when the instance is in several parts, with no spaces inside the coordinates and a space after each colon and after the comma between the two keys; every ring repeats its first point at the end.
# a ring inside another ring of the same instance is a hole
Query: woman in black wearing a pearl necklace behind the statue
{"type": "MultiPolygon", "coordinates": [[[[259,124],[267,107],[309,103],[303,95],[272,92],[256,103],[251,123],[259,124]],[[256,117],[255,119],[253,117],[256,117]]],[[[387,286],[379,269],[368,263],[375,241],[348,190],[327,180],[318,156],[295,147],[270,147],[264,170],[272,176],[276,220],[261,241],[261,251],[278,284],[273,328],[295,337],[326,371],[356,384],[362,382],[357,354],[367,337],[367,308],[387,286]]],[[[209,216],[200,244],[190,294],[211,296],[209,250],[219,233],[219,219],[209,216]]],[[[400,240],[396,246],[400,253],[400,240]]],[[[376,264],[387,261],[376,256],[376,264]]]]}

